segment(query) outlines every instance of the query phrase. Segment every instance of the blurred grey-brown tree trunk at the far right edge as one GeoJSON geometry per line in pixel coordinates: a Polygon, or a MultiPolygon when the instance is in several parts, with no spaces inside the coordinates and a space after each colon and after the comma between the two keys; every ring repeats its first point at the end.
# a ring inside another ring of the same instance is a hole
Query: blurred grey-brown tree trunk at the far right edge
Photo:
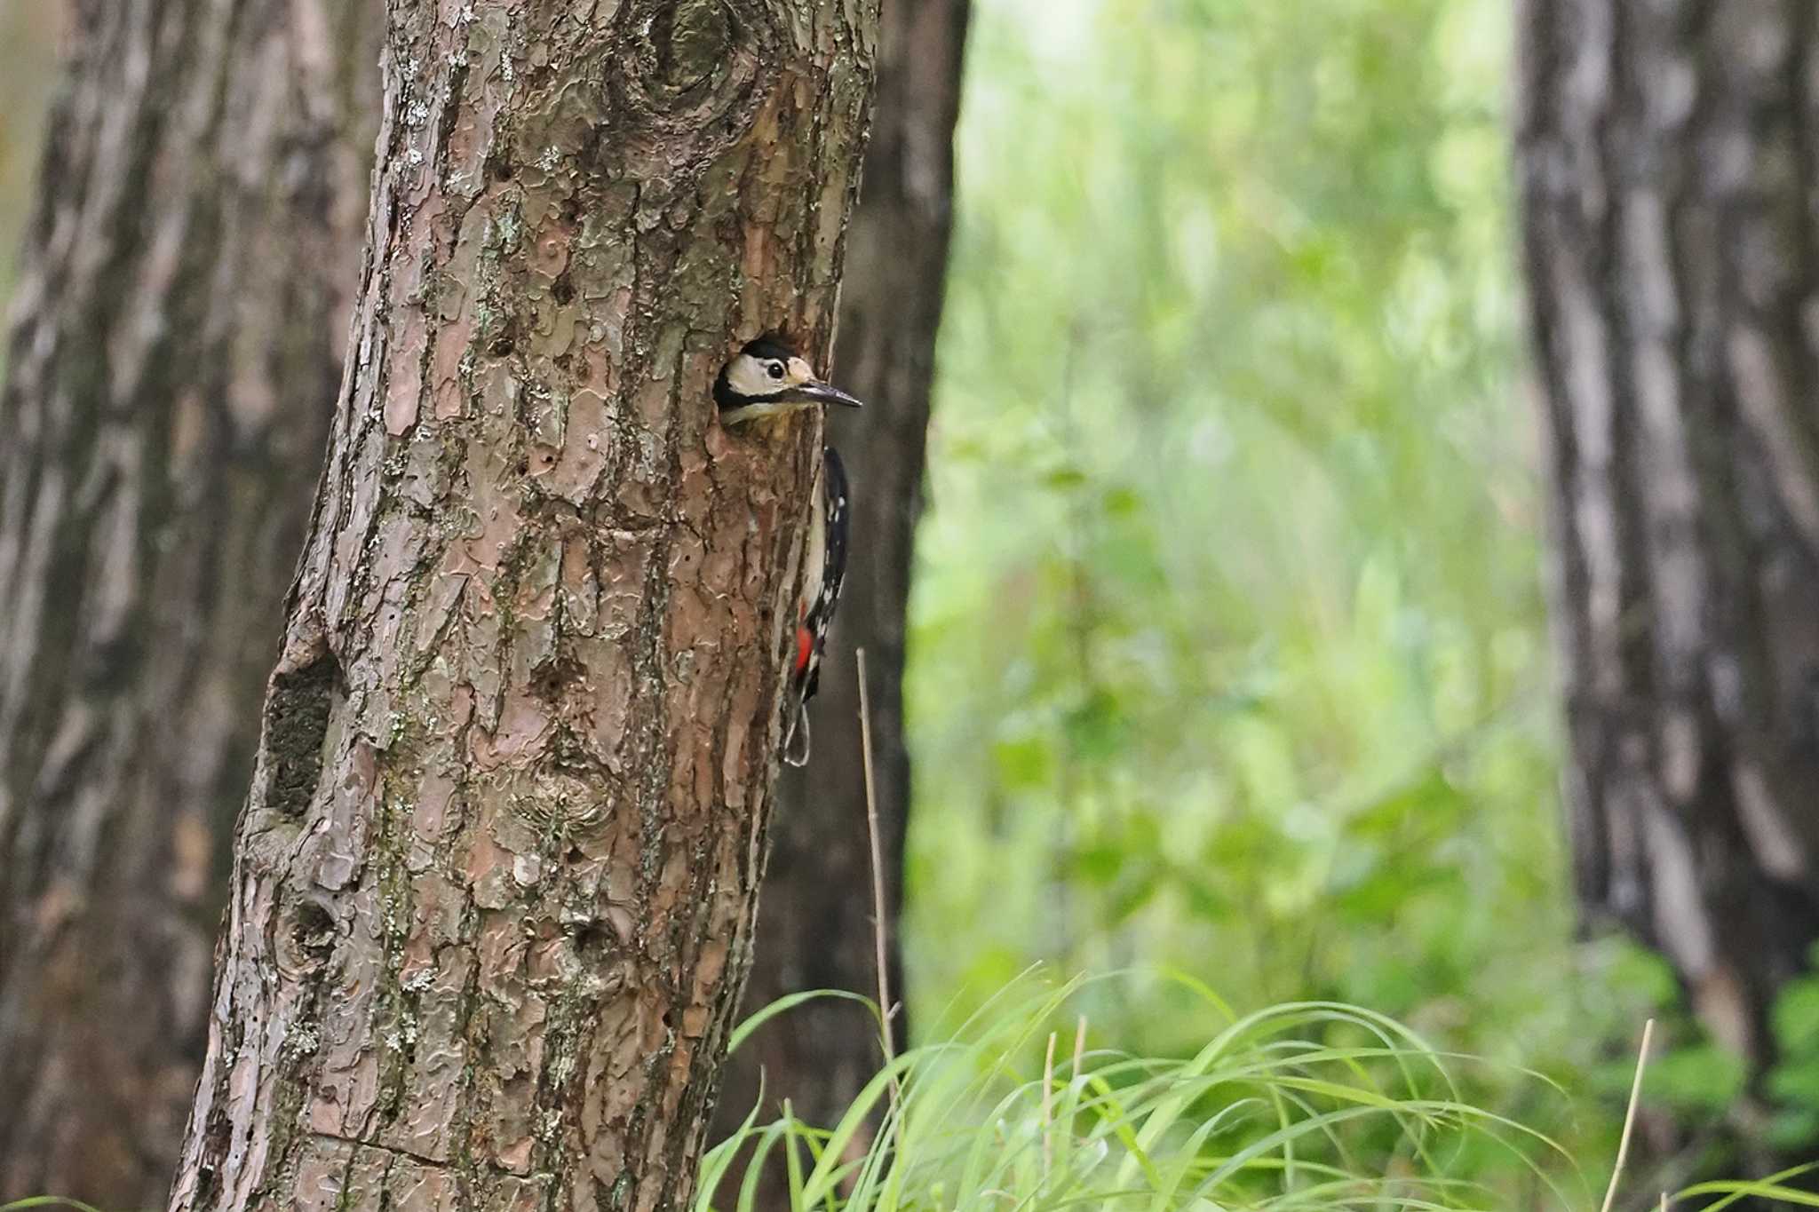
{"type": "Polygon", "coordinates": [[[1819,938],[1819,9],[1519,20],[1579,896],[1761,1065],[1819,938]]]}

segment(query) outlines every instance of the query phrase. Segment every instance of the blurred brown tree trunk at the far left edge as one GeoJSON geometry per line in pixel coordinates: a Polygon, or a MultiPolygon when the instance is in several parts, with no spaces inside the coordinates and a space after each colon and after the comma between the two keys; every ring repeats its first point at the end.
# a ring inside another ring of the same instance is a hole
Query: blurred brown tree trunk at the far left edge
{"type": "Polygon", "coordinates": [[[169,1190],[360,276],[366,13],[73,13],[0,392],[0,1199],[169,1190]]]}

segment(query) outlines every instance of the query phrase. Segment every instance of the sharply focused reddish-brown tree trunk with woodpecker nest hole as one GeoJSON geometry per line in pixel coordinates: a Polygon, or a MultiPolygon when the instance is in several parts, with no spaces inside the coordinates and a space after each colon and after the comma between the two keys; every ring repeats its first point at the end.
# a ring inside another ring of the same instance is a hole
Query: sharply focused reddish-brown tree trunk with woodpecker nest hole
{"type": "Polygon", "coordinates": [[[875,11],[395,0],[171,1208],[675,1208],[739,987],[875,11]]]}

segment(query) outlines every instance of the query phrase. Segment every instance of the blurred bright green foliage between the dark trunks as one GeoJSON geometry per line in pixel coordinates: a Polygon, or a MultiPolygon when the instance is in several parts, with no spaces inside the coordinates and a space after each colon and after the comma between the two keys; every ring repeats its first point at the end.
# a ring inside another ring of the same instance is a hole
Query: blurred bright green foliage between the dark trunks
{"type": "MultiPolygon", "coordinates": [[[[1612,1154],[1668,990],[1572,939],[1508,20],[975,9],[913,601],[915,1010],[1035,959],[1352,1001],[1606,1094],[1555,1123],[1533,1083],[1472,1092],[1612,1154]]],[[[1106,988],[1095,1039],[1204,1038],[1168,983],[1106,988]]]]}

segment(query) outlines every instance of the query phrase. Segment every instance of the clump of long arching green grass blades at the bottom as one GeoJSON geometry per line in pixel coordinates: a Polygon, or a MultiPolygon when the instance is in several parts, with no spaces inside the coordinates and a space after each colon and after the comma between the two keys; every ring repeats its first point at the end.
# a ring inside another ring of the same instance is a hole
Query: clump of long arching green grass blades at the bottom
{"type": "Polygon", "coordinates": [[[800,1212],[1495,1207],[1457,1165],[1484,1145],[1557,1207],[1592,1203],[1555,1185],[1573,1170],[1553,1141],[1461,1101],[1464,1058],[1381,1014],[1302,1001],[1235,1018],[1202,990],[1228,1025],[1190,1058],[1142,1058],[1088,1048],[1066,1014],[1082,985],[1015,981],[893,1058],[831,1128],[753,1112],[704,1159],[697,1212],[748,1212],[779,1157],[800,1212]]]}

